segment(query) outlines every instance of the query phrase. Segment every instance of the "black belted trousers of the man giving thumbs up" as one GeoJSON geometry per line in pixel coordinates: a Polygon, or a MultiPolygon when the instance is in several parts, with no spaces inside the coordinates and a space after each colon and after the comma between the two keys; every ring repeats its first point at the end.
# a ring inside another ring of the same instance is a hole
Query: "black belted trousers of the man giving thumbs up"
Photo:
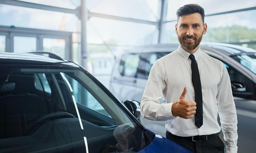
{"type": "Polygon", "coordinates": [[[224,153],[224,144],[219,133],[207,136],[207,139],[193,141],[192,137],[181,137],[166,132],[166,138],[189,149],[193,153],[224,153]]]}

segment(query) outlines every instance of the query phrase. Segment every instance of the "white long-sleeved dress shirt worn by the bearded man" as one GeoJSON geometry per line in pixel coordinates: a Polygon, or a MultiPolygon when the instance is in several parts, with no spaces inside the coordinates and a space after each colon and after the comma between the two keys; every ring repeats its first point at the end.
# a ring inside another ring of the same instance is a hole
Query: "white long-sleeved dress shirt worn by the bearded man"
{"type": "Polygon", "coordinates": [[[202,84],[203,125],[195,126],[195,118],[183,119],[172,115],[172,104],[177,102],[184,87],[185,99],[195,101],[191,80],[189,53],[180,46],[176,51],[158,59],[152,66],[141,100],[141,115],[155,121],[166,121],[166,129],[178,136],[195,136],[222,132],[229,153],[237,152],[237,115],[229,74],[224,64],[197,50],[195,56],[202,84]],[[159,100],[165,97],[166,103],[159,100]],[[220,116],[221,127],[217,116],[220,116]]]}

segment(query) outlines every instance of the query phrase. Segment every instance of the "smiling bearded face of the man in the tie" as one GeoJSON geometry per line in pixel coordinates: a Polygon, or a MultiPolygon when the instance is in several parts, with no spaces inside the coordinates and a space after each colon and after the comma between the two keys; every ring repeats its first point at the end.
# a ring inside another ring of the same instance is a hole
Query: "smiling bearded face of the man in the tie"
{"type": "Polygon", "coordinates": [[[189,53],[194,53],[202,40],[202,35],[207,31],[207,24],[202,23],[199,13],[183,15],[175,25],[181,47],[189,53]]]}

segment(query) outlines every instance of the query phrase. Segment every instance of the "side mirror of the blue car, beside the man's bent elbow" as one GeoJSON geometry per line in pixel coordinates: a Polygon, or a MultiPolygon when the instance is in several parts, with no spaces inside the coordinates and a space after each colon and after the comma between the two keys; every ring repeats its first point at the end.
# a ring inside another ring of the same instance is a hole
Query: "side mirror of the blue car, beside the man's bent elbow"
{"type": "Polygon", "coordinates": [[[123,104],[137,119],[141,117],[141,107],[139,102],[134,100],[126,100],[123,102],[123,104]]]}

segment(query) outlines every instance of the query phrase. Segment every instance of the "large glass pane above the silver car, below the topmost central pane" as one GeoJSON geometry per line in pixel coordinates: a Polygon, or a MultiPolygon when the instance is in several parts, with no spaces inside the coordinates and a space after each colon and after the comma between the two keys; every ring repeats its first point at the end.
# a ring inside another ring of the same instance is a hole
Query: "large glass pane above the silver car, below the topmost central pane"
{"type": "Polygon", "coordinates": [[[93,17],[88,21],[87,32],[88,44],[109,45],[155,44],[158,35],[154,25],[93,17]]]}

